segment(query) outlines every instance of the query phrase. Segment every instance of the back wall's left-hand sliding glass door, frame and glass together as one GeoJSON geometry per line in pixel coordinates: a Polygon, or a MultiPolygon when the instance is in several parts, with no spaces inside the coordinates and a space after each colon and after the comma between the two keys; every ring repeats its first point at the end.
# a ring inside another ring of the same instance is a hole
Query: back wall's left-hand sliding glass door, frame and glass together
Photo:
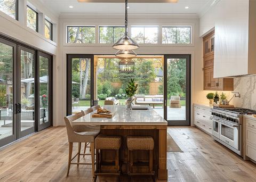
{"type": "Polygon", "coordinates": [[[67,115],[70,115],[94,104],[94,55],[68,54],[67,60],[67,115]]]}

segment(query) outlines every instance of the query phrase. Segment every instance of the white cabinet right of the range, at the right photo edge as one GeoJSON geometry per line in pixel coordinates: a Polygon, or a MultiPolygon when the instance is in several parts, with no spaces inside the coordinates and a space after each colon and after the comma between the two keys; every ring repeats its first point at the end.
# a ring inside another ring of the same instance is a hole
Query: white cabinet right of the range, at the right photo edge
{"type": "Polygon", "coordinates": [[[256,118],[245,116],[244,126],[245,155],[256,161],[256,118]]]}

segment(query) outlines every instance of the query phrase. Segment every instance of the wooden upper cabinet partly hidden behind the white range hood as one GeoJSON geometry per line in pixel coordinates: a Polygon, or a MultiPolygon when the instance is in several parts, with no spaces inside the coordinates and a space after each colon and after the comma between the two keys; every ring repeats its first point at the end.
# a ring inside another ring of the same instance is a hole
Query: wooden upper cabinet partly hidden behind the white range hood
{"type": "Polygon", "coordinates": [[[214,78],[214,31],[204,41],[204,90],[233,91],[233,78],[214,78]]]}

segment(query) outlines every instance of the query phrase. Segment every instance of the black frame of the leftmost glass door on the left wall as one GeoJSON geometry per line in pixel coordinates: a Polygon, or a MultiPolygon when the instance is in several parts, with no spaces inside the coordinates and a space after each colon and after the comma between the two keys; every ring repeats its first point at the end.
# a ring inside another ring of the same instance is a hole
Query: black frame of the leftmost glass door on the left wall
{"type": "Polygon", "coordinates": [[[5,137],[3,139],[0,140],[0,146],[4,146],[6,144],[9,144],[11,142],[14,142],[17,139],[17,131],[18,131],[18,126],[17,126],[17,93],[16,90],[18,88],[17,86],[17,44],[10,42],[9,40],[3,39],[0,37],[0,43],[6,44],[8,46],[13,47],[13,61],[12,61],[12,88],[13,88],[13,106],[12,106],[12,134],[11,136],[5,137]]]}

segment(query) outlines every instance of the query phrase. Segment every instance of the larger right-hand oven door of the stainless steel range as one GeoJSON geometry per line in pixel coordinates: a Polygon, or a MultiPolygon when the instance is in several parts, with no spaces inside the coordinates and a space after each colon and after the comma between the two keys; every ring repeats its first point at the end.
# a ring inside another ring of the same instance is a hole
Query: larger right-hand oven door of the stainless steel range
{"type": "Polygon", "coordinates": [[[232,123],[223,123],[220,124],[220,139],[231,147],[239,150],[239,125],[234,125],[232,123]]]}

